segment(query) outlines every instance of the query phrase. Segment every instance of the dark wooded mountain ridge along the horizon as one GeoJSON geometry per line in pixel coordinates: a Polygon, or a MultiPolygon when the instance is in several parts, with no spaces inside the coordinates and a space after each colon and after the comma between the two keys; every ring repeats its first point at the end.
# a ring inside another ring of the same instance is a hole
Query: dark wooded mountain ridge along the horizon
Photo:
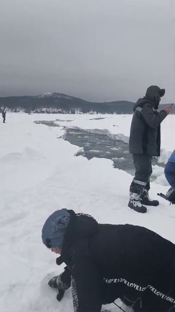
{"type": "MultiPolygon", "coordinates": [[[[48,92],[38,96],[0,97],[0,107],[11,112],[61,113],[61,114],[132,114],[133,102],[90,102],[66,94],[48,92]]],[[[161,109],[169,104],[161,105],[161,109]]]]}

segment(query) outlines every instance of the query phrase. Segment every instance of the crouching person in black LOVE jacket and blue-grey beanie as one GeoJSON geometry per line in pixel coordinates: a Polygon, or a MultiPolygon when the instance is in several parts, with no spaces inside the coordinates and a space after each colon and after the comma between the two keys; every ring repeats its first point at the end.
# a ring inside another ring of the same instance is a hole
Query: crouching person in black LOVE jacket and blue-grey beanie
{"type": "MultiPolygon", "coordinates": [[[[42,241],[67,267],[49,281],[72,290],[74,312],[100,312],[121,298],[135,312],[165,312],[175,305],[175,245],[134,225],[98,224],[90,215],[55,211],[42,229],[42,241]]],[[[172,310],[173,311],[173,310],[172,310]]]]}

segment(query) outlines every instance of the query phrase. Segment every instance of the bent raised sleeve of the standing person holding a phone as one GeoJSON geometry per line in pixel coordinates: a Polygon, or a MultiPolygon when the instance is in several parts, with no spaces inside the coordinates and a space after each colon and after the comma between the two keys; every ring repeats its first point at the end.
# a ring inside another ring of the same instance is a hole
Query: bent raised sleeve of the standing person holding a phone
{"type": "Polygon", "coordinates": [[[140,115],[144,118],[150,128],[157,128],[163,119],[167,116],[167,113],[165,111],[160,111],[159,113],[155,114],[153,112],[152,106],[147,103],[143,106],[140,115]]]}

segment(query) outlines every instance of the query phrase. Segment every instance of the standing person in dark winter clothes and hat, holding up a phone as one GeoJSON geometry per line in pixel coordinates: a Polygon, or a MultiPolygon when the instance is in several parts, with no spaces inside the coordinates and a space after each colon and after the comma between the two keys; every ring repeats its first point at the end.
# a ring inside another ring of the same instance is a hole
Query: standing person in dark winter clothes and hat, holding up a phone
{"type": "Polygon", "coordinates": [[[167,108],[157,112],[164,94],[165,89],[150,86],[145,97],[140,98],[134,105],[129,152],[133,156],[136,172],[130,185],[128,206],[140,213],[147,211],[142,205],[157,206],[159,204],[158,200],[149,198],[148,191],[152,174],[152,156],[160,156],[160,123],[171,111],[171,108],[167,108]]]}

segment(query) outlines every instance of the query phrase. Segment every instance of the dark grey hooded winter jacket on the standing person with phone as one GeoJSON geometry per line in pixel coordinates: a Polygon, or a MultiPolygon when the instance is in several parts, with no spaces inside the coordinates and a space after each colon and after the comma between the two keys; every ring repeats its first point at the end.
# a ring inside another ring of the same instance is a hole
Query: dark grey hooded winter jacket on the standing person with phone
{"type": "Polygon", "coordinates": [[[129,152],[160,156],[160,123],[167,116],[157,113],[155,103],[149,98],[140,98],[134,105],[129,137],[129,152]]]}

